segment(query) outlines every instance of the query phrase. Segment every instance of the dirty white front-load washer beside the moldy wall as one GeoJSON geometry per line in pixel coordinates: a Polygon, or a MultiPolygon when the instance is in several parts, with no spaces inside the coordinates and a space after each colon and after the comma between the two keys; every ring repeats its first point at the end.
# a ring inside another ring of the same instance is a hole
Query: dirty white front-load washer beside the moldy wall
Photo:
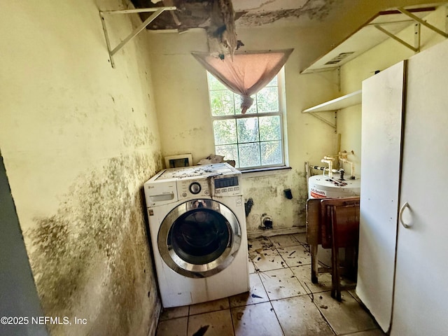
{"type": "Polygon", "coordinates": [[[144,192],[163,307],[248,291],[241,172],[227,163],[165,169],[144,192]]]}

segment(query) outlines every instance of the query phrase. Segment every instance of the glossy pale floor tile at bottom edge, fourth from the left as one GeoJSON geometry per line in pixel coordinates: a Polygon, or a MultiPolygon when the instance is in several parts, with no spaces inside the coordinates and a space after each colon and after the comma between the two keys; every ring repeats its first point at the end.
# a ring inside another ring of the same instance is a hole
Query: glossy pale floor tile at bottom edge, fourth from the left
{"type": "Polygon", "coordinates": [[[290,297],[271,303],[286,336],[335,335],[309,296],[290,297]]]}

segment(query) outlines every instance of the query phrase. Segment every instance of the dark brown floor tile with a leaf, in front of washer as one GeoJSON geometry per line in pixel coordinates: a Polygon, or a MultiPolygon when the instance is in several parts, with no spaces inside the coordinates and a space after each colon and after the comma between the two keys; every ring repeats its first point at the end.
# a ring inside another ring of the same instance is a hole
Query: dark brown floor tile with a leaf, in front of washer
{"type": "Polygon", "coordinates": [[[234,335],[229,309],[190,316],[188,318],[188,336],[195,334],[200,328],[207,325],[209,326],[207,332],[202,335],[234,335]]]}

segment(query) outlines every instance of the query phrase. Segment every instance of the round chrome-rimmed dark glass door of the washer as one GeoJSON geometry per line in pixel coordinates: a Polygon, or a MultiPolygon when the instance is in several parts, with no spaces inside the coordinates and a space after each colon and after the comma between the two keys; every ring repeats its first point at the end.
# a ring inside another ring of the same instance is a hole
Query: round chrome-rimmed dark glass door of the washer
{"type": "Polygon", "coordinates": [[[221,272],[241,244],[237,217],[214,200],[191,200],[169,212],[160,225],[158,248],[175,272],[203,278],[221,272]]]}

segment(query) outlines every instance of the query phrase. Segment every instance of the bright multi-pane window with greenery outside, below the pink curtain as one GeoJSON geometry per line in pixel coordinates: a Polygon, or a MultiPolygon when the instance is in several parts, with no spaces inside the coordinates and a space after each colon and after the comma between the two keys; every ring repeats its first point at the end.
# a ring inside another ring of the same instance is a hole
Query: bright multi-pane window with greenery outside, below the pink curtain
{"type": "Polygon", "coordinates": [[[245,114],[241,97],[207,76],[216,155],[235,160],[239,169],[284,166],[280,74],[252,96],[245,114]]]}

